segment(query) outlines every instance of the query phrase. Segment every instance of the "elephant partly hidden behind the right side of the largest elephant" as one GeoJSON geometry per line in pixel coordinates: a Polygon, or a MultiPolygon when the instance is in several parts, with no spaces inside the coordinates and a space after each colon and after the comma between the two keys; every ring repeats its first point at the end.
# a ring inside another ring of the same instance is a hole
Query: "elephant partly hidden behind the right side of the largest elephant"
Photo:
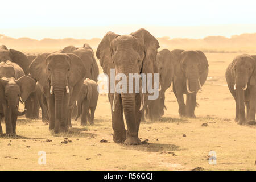
{"type": "MultiPolygon", "coordinates": [[[[164,109],[166,109],[166,106],[164,105],[165,92],[170,88],[174,78],[174,64],[172,62],[173,58],[171,51],[163,49],[158,52],[158,55],[156,56],[156,65],[158,68],[161,90],[159,91],[158,99],[150,100],[145,108],[146,117],[151,121],[158,120],[164,115],[164,109]]],[[[144,120],[143,114],[142,119],[144,120]]]]}

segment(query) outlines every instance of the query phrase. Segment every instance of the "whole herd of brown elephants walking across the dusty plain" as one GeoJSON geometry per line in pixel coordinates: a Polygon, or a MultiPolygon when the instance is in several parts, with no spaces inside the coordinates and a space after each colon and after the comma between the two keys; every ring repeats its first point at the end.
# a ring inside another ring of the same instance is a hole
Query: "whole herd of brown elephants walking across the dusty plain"
{"type": "MultiPolygon", "coordinates": [[[[162,117],[166,110],[165,92],[172,83],[180,117],[196,117],[197,92],[208,76],[207,57],[201,51],[158,48],[158,40],[143,28],[129,35],[108,32],[98,45],[96,56],[108,77],[111,69],[127,77],[130,73],[159,75],[159,95],[154,100],[148,99],[152,93],[142,84],[139,93],[108,93],[116,143],[141,144],[141,121],[162,117]]],[[[81,125],[93,124],[99,68],[88,44],[38,55],[24,55],[0,46],[0,62],[0,120],[5,118],[6,135],[16,134],[19,115],[39,118],[39,108],[42,120],[49,121],[49,130],[55,133],[67,132],[72,118],[81,118],[81,125]],[[19,102],[24,102],[24,111],[19,111],[19,102]]],[[[241,55],[226,69],[228,87],[236,101],[236,121],[240,124],[255,123],[255,63],[255,55],[241,55]]],[[[118,84],[118,80],[114,82],[118,84]]],[[[130,86],[128,82],[127,85],[130,86]]]]}

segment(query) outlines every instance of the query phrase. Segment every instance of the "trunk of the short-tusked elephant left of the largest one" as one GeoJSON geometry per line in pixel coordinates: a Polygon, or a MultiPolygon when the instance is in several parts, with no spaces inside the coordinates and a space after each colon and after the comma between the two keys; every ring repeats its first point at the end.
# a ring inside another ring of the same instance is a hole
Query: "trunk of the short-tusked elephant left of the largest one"
{"type": "Polygon", "coordinates": [[[61,112],[63,110],[64,88],[54,88],[55,98],[55,127],[54,132],[59,133],[61,112]]]}

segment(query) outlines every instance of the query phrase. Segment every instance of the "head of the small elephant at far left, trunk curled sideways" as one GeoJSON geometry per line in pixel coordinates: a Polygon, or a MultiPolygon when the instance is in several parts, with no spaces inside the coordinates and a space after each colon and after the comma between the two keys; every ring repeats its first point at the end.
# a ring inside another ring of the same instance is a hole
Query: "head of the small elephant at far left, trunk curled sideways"
{"type": "Polygon", "coordinates": [[[15,115],[26,114],[26,110],[19,112],[18,104],[20,98],[26,101],[31,92],[35,90],[35,80],[28,76],[22,76],[18,80],[15,78],[0,78],[1,98],[5,98],[5,103],[15,115]]]}

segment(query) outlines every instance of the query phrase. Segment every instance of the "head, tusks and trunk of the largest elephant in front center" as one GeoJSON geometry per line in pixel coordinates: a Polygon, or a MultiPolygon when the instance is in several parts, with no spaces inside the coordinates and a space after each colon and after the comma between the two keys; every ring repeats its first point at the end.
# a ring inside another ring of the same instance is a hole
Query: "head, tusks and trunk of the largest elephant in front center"
{"type": "MultiPolygon", "coordinates": [[[[110,77],[110,68],[115,68],[115,73],[122,73],[129,77],[129,73],[156,73],[156,54],[159,48],[158,40],[143,28],[130,35],[118,35],[108,32],[101,40],[96,56],[104,73],[110,77]]],[[[134,84],[133,84],[134,85],[134,84]]],[[[127,84],[127,90],[129,90],[127,84]]],[[[115,98],[113,109],[115,108],[115,98]]],[[[144,97],[141,95],[141,107],[144,97]]],[[[120,97],[118,97],[120,98],[120,97]]],[[[135,121],[135,94],[121,93],[122,106],[125,113],[128,135],[136,136],[138,131],[133,130],[135,121]],[[133,130],[133,131],[131,131],[133,130]],[[135,133],[134,133],[135,131],[135,133]]],[[[142,108],[141,108],[142,109],[142,108]]],[[[114,111],[114,110],[113,110],[114,111]]]]}

